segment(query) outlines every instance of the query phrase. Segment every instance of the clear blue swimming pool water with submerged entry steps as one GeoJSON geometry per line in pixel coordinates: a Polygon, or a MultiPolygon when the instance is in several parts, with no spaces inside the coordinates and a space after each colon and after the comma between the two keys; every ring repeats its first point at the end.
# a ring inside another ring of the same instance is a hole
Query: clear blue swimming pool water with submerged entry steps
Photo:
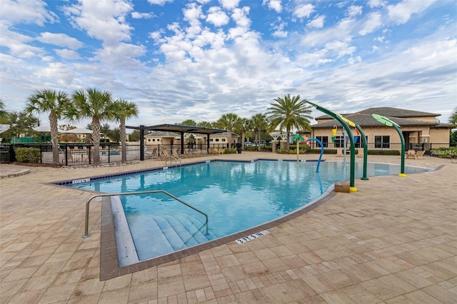
{"type": "MultiPolygon", "coordinates": [[[[323,162],[319,173],[316,166],[296,161],[211,161],[71,186],[104,193],[163,190],[208,214],[206,235],[204,216],[164,194],[121,196],[139,260],[146,260],[272,221],[349,178],[348,163],[343,168],[340,161],[323,162]]],[[[362,169],[362,163],[356,163],[356,177],[362,176],[362,169]]],[[[406,167],[407,174],[425,171],[406,167]]],[[[400,166],[368,163],[368,176],[398,173],[400,166]]]]}

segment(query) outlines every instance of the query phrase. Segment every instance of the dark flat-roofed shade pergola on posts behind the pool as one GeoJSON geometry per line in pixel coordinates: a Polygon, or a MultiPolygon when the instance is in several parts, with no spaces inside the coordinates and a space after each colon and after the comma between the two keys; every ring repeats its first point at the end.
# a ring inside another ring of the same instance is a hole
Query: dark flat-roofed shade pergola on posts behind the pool
{"type": "MultiPolygon", "coordinates": [[[[171,125],[162,124],[156,126],[126,126],[126,128],[132,128],[140,131],[140,160],[144,161],[144,131],[168,131],[175,132],[181,135],[181,154],[184,154],[184,133],[196,133],[206,134],[206,146],[209,147],[209,136],[215,133],[224,133],[227,130],[219,128],[205,128],[199,126],[183,126],[183,125],[171,125]]],[[[206,149],[208,152],[208,148],[206,149]]],[[[209,153],[209,152],[208,152],[209,153]]]]}

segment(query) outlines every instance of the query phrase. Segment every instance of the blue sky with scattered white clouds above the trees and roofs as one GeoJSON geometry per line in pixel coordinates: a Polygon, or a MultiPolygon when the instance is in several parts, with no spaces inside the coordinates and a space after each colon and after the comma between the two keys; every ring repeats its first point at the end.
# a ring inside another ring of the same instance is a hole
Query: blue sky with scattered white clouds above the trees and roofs
{"type": "Polygon", "coordinates": [[[456,18],[451,0],[1,0],[0,98],[21,111],[35,89],[96,87],[137,104],[129,125],[152,126],[250,118],[290,93],[447,122],[456,18]]]}

